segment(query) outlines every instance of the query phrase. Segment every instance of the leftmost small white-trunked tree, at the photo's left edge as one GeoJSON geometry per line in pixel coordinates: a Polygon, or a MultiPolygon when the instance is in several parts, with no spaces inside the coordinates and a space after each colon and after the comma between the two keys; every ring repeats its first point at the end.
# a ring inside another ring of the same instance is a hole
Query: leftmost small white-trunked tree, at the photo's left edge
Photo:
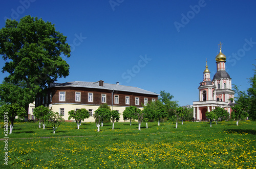
{"type": "Polygon", "coordinates": [[[8,104],[0,107],[0,116],[5,120],[8,120],[8,124],[10,126],[10,133],[12,134],[14,119],[16,116],[19,118],[24,118],[26,115],[26,110],[23,107],[20,107],[19,104],[8,104]]]}

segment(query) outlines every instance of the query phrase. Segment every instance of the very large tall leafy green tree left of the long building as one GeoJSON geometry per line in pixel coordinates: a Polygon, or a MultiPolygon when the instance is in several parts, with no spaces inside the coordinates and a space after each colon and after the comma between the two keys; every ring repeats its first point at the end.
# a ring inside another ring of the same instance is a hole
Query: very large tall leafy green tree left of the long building
{"type": "Polygon", "coordinates": [[[30,15],[19,21],[7,19],[0,30],[0,55],[5,66],[3,73],[9,73],[5,81],[28,89],[26,102],[35,100],[37,93],[44,91],[57,78],[69,75],[69,65],[61,55],[70,57],[67,37],[55,30],[54,25],[30,15]]]}

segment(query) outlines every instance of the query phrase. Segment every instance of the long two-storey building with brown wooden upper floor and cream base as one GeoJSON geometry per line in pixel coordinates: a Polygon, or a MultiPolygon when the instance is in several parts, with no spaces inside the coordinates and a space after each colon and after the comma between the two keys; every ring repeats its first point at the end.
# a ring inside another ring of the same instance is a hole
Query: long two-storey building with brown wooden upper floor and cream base
{"type": "MultiPolygon", "coordinates": [[[[108,104],[111,110],[118,110],[120,122],[123,122],[122,112],[126,107],[136,106],[143,108],[148,102],[158,99],[154,92],[138,87],[98,82],[67,82],[52,83],[45,97],[38,96],[36,106],[47,105],[54,112],[59,112],[65,120],[68,120],[68,112],[75,109],[86,108],[90,117],[84,122],[94,122],[94,111],[100,104],[108,104]]],[[[71,119],[72,120],[72,119],[71,119]]]]}

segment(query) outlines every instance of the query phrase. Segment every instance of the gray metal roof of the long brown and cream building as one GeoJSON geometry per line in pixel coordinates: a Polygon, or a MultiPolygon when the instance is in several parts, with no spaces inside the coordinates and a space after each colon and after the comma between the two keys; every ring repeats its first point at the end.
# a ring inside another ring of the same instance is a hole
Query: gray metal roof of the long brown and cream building
{"type": "Polygon", "coordinates": [[[157,93],[147,91],[138,87],[124,86],[119,84],[110,84],[104,83],[104,86],[99,86],[99,82],[66,82],[66,83],[51,83],[50,88],[52,87],[84,87],[84,88],[95,88],[95,89],[106,89],[106,90],[117,90],[117,91],[126,91],[142,94],[152,94],[159,95],[157,93]]]}

